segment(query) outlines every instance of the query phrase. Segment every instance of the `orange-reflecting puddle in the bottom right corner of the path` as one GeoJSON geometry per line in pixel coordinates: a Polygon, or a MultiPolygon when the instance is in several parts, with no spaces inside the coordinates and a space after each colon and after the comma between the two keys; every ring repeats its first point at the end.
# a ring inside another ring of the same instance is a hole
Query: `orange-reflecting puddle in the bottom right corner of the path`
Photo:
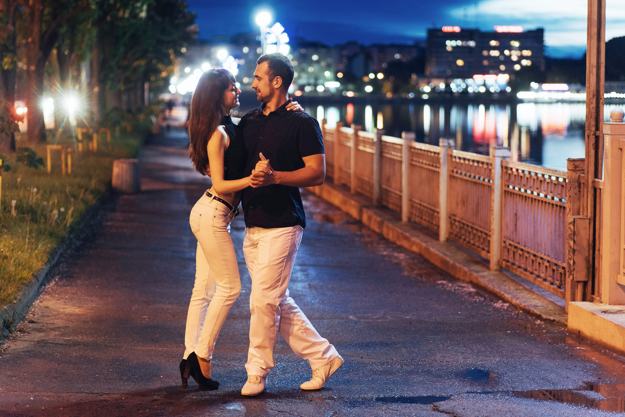
{"type": "Polygon", "coordinates": [[[602,411],[625,411],[625,384],[591,384],[579,390],[512,391],[532,400],[557,401],[602,411]]]}

